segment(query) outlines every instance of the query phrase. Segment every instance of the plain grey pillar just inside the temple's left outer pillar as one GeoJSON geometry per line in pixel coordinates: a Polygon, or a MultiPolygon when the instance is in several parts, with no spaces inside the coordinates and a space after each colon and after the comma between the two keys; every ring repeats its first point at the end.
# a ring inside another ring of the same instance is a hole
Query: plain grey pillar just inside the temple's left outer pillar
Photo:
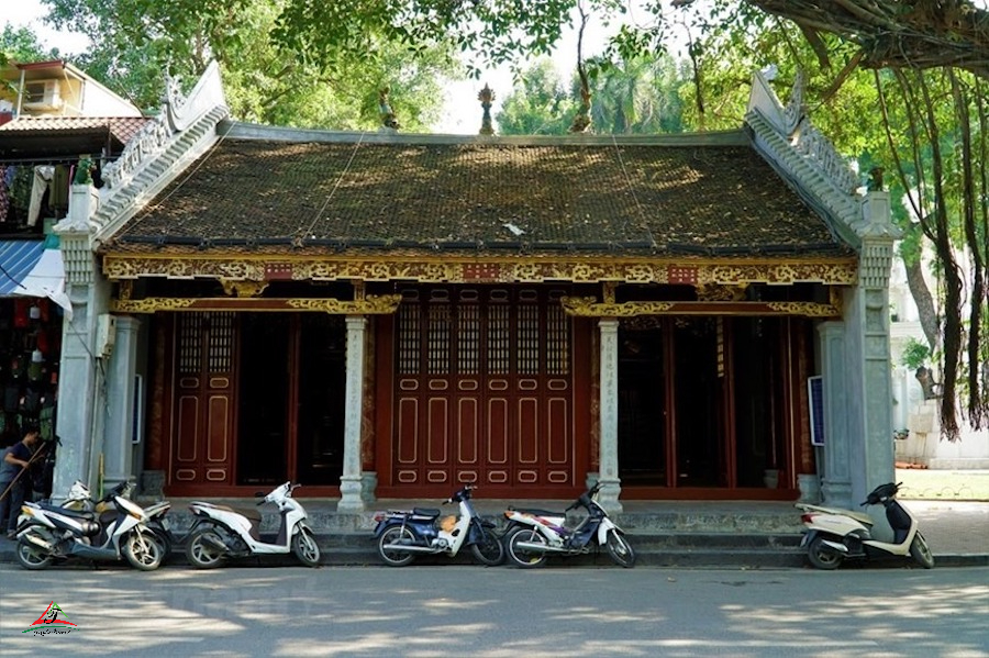
{"type": "Polygon", "coordinates": [[[107,369],[107,408],[103,422],[103,489],[110,489],[134,476],[134,373],[137,360],[137,332],[141,322],[134,317],[116,319],[116,338],[107,369]]]}

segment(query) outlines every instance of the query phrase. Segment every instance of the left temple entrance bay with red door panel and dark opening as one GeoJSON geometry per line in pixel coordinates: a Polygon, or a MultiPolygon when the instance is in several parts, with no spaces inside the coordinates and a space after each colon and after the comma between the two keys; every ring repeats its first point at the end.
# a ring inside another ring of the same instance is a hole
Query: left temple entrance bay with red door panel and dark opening
{"type": "Polygon", "coordinates": [[[182,487],[340,484],[345,330],[324,313],[175,316],[182,487]]]}

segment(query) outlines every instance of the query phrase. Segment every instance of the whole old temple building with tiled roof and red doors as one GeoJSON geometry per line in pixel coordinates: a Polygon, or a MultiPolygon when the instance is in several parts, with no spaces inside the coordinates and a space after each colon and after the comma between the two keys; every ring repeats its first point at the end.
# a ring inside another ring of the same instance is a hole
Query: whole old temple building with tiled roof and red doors
{"type": "Polygon", "coordinates": [[[56,489],[848,504],[892,475],[889,200],[759,74],[735,131],[229,118],[211,67],[58,223],[56,489]],[[97,428],[89,433],[87,428],[97,428]]]}

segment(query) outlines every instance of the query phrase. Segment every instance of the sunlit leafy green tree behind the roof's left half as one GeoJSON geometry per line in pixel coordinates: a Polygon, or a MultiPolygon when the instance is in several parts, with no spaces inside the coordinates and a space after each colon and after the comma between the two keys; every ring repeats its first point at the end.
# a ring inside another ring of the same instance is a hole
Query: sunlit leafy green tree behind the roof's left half
{"type": "Polygon", "coordinates": [[[344,130],[375,129],[377,98],[391,101],[405,130],[438,116],[440,80],[457,69],[442,47],[370,37],[368,52],[342,53],[324,66],[279,45],[284,0],[43,0],[48,21],[90,37],[77,62],[95,78],[148,110],[160,102],[163,73],[196,80],[211,59],[221,66],[231,114],[243,121],[344,130]]]}

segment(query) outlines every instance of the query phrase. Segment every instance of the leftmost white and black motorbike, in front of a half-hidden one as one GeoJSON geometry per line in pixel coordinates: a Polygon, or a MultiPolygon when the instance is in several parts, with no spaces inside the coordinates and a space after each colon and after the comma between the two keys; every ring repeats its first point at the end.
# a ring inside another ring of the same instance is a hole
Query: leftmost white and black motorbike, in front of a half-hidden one
{"type": "Polygon", "coordinates": [[[135,569],[157,569],[164,549],[147,527],[147,514],[121,495],[110,494],[113,510],[99,517],[48,503],[24,503],[18,517],[18,561],[45,569],[56,558],[124,558],[135,569]]]}

